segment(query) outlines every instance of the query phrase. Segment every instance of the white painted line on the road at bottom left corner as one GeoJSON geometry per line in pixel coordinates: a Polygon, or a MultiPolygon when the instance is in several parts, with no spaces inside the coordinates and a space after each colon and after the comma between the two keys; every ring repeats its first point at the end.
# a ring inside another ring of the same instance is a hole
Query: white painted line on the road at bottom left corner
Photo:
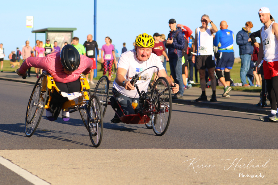
{"type": "Polygon", "coordinates": [[[22,169],[21,167],[10,162],[9,160],[2,158],[1,156],[0,156],[0,164],[7,167],[8,169],[15,172],[16,174],[20,175],[30,183],[33,183],[34,185],[50,185],[50,183],[40,179],[36,175],[31,174],[30,172],[22,169]]]}

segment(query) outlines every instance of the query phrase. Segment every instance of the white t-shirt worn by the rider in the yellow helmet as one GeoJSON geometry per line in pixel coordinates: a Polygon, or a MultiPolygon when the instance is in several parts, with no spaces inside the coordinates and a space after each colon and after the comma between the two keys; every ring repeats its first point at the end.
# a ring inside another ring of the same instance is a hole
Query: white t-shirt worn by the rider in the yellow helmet
{"type": "MultiPolygon", "coordinates": [[[[161,59],[156,54],[152,53],[148,60],[141,62],[137,60],[135,49],[133,49],[121,54],[120,59],[118,61],[117,68],[126,69],[127,73],[124,76],[124,78],[126,80],[132,80],[132,77],[135,76],[135,74],[138,74],[139,72],[152,66],[157,66],[159,70],[164,69],[161,59]]],[[[148,85],[150,83],[150,80],[154,72],[157,72],[157,68],[150,68],[140,75],[139,80],[136,82],[140,92],[141,91],[147,92],[148,85]]],[[[124,87],[118,85],[116,81],[114,81],[113,87],[117,89],[117,91],[119,91],[124,96],[130,98],[139,98],[139,94],[136,88],[134,90],[128,91],[124,87]]]]}

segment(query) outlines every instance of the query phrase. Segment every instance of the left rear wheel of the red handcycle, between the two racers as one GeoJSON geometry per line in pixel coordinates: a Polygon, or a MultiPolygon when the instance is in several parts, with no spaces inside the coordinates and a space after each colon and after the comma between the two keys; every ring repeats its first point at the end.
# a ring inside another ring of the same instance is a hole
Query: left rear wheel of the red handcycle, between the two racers
{"type": "Polygon", "coordinates": [[[107,108],[107,102],[109,97],[109,82],[108,82],[107,76],[102,76],[97,85],[95,86],[94,95],[96,95],[99,98],[103,117],[107,108]]]}

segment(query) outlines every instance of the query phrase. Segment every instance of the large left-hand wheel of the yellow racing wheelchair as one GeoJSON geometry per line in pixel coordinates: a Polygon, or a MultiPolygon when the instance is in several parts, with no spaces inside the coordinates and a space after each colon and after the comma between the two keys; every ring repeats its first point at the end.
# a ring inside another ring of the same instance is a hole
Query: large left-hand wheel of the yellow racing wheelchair
{"type": "Polygon", "coordinates": [[[25,135],[27,137],[31,137],[35,133],[40,123],[47,96],[47,77],[45,73],[42,73],[36,81],[27,106],[25,117],[25,135]]]}

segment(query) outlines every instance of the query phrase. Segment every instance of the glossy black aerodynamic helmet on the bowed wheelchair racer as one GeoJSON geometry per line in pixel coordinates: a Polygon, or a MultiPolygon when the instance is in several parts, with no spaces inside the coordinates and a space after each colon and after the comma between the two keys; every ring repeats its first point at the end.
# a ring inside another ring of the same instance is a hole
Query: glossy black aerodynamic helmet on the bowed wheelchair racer
{"type": "Polygon", "coordinates": [[[74,71],[79,67],[80,54],[73,45],[65,45],[60,53],[60,58],[61,64],[66,70],[74,71]]]}

